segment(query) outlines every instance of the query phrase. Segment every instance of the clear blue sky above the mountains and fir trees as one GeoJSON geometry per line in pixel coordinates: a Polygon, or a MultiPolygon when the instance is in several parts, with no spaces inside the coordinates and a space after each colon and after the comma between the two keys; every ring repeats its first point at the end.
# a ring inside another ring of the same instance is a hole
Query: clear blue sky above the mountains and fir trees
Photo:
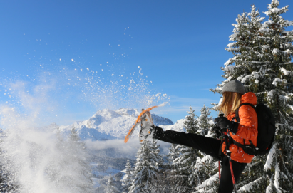
{"type": "Polygon", "coordinates": [[[0,103],[58,125],[166,100],[154,113],[175,122],[192,105],[199,115],[220,99],[208,90],[232,57],[231,24],[270,2],[1,1],[0,103]]]}

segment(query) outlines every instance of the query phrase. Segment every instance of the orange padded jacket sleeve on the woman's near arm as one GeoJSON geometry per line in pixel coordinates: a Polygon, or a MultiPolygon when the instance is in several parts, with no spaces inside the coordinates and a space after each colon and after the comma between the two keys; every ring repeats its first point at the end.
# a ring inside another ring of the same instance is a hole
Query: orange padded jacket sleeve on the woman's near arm
{"type": "MultiPolygon", "coordinates": [[[[257,140],[257,113],[249,105],[243,105],[239,109],[240,123],[235,135],[245,140],[257,140]]],[[[233,136],[232,136],[233,137],[233,136]]]]}

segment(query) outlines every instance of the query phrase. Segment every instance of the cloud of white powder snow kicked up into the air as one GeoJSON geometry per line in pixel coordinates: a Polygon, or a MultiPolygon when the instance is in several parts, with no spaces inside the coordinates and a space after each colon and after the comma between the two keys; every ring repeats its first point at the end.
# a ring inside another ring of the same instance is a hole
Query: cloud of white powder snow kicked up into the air
{"type": "MultiPolygon", "coordinates": [[[[92,192],[88,184],[93,182],[81,177],[80,171],[85,166],[74,160],[79,154],[66,153],[70,148],[62,143],[66,138],[58,136],[56,124],[50,125],[52,122],[72,124],[69,116],[74,114],[72,105],[95,110],[125,106],[142,108],[168,100],[168,95],[150,90],[141,68],[139,73],[132,75],[123,75],[120,71],[115,75],[110,66],[105,68],[109,70],[104,75],[101,69],[76,67],[42,70],[25,80],[1,78],[0,90],[9,97],[0,104],[0,127],[3,129],[0,165],[9,176],[12,190],[92,192]]],[[[91,115],[92,112],[87,116],[91,115]]],[[[87,156],[85,152],[80,158],[87,156]]]]}

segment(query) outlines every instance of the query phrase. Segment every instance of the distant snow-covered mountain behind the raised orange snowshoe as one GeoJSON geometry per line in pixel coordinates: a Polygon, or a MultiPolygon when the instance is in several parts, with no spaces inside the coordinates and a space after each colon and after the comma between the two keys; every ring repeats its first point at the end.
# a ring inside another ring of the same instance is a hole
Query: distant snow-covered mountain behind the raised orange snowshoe
{"type": "MultiPolygon", "coordinates": [[[[75,127],[81,140],[112,140],[123,139],[138,118],[137,109],[120,108],[118,110],[98,110],[88,120],[77,121],[72,125],[60,126],[59,130],[67,135],[72,127],[75,127]]],[[[168,118],[152,114],[155,125],[164,129],[180,130],[182,121],[178,120],[175,125],[168,118]],[[170,126],[172,125],[172,126],[170,126]]],[[[56,125],[54,126],[56,127],[56,125]]],[[[132,137],[138,137],[140,127],[136,128],[132,137]]]]}

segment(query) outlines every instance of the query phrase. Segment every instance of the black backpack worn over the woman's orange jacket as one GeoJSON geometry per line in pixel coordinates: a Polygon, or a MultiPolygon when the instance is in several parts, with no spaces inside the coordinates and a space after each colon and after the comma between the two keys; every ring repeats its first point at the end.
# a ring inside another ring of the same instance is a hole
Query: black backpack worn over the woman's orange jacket
{"type": "MultiPolygon", "coordinates": [[[[252,108],[255,109],[257,113],[257,146],[250,142],[250,145],[243,145],[245,144],[245,139],[243,139],[243,144],[236,142],[232,139],[233,143],[238,147],[241,147],[247,154],[249,155],[265,155],[269,152],[272,148],[272,143],[274,142],[274,134],[276,132],[276,127],[274,124],[274,116],[272,115],[272,111],[263,103],[259,103],[258,105],[254,106],[250,103],[243,103],[242,105],[250,105],[252,108]]],[[[239,108],[235,111],[235,118],[237,122],[240,122],[239,118],[239,108]]]]}

